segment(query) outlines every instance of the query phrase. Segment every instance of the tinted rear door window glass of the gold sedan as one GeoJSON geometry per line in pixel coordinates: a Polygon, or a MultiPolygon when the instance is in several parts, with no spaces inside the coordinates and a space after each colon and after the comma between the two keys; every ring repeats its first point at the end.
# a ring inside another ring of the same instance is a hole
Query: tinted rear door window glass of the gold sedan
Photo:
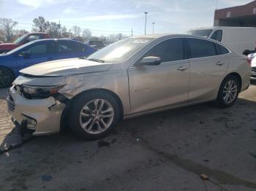
{"type": "Polygon", "coordinates": [[[202,58],[217,55],[214,42],[192,38],[188,39],[188,42],[190,58],[202,58]]]}

